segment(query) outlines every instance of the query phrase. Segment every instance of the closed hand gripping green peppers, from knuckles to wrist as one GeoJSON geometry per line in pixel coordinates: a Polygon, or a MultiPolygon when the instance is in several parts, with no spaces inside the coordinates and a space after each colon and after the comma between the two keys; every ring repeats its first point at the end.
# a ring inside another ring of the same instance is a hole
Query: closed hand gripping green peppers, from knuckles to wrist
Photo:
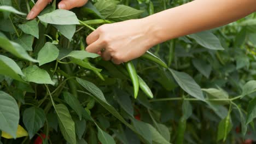
{"type": "Polygon", "coordinates": [[[106,24],[86,38],[86,51],[99,53],[105,61],[115,64],[127,62],[157,43],[154,29],[144,19],[106,24]]]}

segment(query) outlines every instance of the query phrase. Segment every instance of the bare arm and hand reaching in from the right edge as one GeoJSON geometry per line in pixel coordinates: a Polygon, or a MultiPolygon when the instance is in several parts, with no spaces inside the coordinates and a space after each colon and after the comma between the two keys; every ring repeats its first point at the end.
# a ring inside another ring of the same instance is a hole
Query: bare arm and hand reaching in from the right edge
{"type": "Polygon", "coordinates": [[[255,11],[255,0],[195,0],[143,19],[102,25],[86,38],[86,51],[120,64],[166,40],[223,26],[255,11]]]}

